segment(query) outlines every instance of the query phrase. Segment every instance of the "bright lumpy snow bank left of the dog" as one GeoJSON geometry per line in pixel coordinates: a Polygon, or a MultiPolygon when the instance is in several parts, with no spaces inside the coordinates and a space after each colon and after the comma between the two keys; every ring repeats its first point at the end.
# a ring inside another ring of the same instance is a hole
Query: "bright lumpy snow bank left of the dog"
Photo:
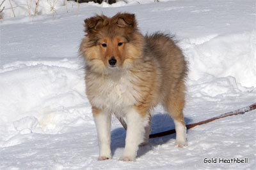
{"type": "Polygon", "coordinates": [[[57,133],[64,125],[81,124],[84,110],[77,107],[87,101],[83,77],[77,60],[5,64],[0,69],[0,138],[17,132],[57,133]]]}

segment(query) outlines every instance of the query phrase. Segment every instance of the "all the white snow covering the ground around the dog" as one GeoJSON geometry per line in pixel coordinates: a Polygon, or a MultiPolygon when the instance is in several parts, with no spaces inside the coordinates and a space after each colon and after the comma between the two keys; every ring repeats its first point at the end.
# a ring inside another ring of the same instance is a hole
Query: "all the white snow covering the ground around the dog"
{"type": "MultiPolygon", "coordinates": [[[[89,3],[80,4],[77,16],[76,3],[59,0],[54,18],[48,2],[41,1],[34,22],[26,0],[12,1],[15,18],[9,1],[4,3],[0,169],[255,169],[256,111],[189,129],[187,148],[175,146],[175,134],[150,139],[136,162],[118,161],[125,130],[113,118],[113,159],[97,161],[84,62],[77,52],[83,20],[95,13],[135,13],[143,34],[175,34],[189,62],[185,121],[199,122],[256,103],[255,1],[89,3]],[[204,164],[211,157],[249,162],[204,164]]],[[[161,106],[152,115],[152,133],[174,128],[161,106]]]]}

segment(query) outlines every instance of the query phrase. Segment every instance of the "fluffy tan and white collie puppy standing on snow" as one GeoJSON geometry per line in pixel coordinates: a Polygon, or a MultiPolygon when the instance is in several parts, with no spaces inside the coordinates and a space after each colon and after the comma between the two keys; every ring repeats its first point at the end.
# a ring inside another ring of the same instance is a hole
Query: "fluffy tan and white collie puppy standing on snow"
{"type": "Polygon", "coordinates": [[[125,120],[127,133],[120,160],[134,161],[148,142],[157,104],[173,118],[176,145],[187,146],[183,108],[188,67],[169,35],[143,36],[134,14],[96,15],[84,20],[80,45],[85,60],[86,95],[99,138],[99,159],[111,159],[111,114],[125,120]]]}

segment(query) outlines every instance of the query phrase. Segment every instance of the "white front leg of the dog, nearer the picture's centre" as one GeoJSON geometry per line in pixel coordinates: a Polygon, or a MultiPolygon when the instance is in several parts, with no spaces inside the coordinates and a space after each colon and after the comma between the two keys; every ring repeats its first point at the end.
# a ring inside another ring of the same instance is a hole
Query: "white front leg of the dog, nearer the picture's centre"
{"type": "Polygon", "coordinates": [[[143,143],[145,126],[148,125],[148,115],[141,115],[135,108],[131,108],[126,113],[127,132],[125,138],[125,148],[120,160],[134,161],[136,159],[138,147],[143,143]]]}

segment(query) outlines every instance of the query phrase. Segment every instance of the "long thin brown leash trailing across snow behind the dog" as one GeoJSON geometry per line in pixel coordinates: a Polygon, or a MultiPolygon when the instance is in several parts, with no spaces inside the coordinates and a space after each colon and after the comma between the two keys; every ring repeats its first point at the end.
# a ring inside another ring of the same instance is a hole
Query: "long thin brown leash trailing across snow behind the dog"
{"type": "MultiPolygon", "coordinates": [[[[233,116],[233,115],[241,115],[241,114],[244,114],[248,111],[252,111],[252,110],[255,110],[255,109],[256,109],[256,103],[253,103],[250,106],[246,106],[246,107],[241,108],[239,110],[224,113],[224,114],[222,114],[218,117],[213,117],[213,118],[210,118],[210,119],[207,119],[207,120],[203,120],[201,122],[186,125],[186,127],[187,127],[187,129],[191,129],[192,127],[195,127],[196,125],[207,124],[207,123],[212,122],[214,120],[217,120],[217,119],[220,119],[220,118],[225,118],[225,117],[230,117],[230,116],[233,116]]],[[[159,133],[156,133],[156,134],[150,134],[149,138],[159,138],[159,137],[162,137],[162,136],[174,134],[175,132],[176,132],[175,129],[172,129],[172,130],[169,130],[169,131],[159,132],[159,133]]]]}

